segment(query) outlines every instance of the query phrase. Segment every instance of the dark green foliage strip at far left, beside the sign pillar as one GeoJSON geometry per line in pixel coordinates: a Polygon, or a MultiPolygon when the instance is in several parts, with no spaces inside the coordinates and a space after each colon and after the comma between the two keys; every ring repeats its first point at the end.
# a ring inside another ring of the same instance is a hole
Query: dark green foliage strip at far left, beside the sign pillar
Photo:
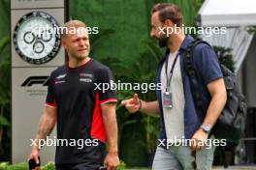
{"type": "Polygon", "coordinates": [[[11,156],[10,1],[0,1],[0,160],[11,156]]]}

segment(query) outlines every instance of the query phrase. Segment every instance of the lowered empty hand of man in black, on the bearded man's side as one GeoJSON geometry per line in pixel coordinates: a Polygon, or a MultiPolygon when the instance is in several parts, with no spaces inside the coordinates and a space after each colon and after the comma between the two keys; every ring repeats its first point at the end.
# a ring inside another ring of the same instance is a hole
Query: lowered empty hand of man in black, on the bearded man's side
{"type": "Polygon", "coordinates": [[[117,153],[109,153],[104,160],[107,170],[114,170],[119,164],[120,161],[117,153]]]}

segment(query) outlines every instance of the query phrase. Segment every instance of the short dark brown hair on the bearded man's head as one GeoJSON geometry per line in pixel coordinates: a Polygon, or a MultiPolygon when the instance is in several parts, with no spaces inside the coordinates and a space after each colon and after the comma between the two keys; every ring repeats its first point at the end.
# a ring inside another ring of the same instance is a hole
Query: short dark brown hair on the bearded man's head
{"type": "Polygon", "coordinates": [[[166,19],[170,19],[176,24],[176,26],[181,27],[183,22],[183,15],[178,6],[172,3],[159,3],[153,6],[151,14],[159,12],[159,19],[164,22],[166,19]]]}

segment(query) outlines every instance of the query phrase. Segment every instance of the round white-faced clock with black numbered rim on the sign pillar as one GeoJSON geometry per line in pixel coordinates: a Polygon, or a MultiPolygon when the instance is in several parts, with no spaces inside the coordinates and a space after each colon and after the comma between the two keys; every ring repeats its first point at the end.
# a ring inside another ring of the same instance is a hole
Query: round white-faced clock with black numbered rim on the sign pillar
{"type": "Polygon", "coordinates": [[[45,12],[24,14],[16,23],[13,42],[16,53],[35,65],[53,59],[61,46],[57,20],[45,12]]]}

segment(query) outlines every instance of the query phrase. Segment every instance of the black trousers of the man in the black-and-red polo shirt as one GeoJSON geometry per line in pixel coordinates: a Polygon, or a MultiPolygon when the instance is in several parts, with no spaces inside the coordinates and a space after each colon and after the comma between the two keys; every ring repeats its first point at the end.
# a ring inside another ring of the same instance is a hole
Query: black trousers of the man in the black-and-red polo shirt
{"type": "Polygon", "coordinates": [[[55,170],[98,170],[100,164],[92,162],[81,163],[57,163],[55,164],[55,170]]]}

